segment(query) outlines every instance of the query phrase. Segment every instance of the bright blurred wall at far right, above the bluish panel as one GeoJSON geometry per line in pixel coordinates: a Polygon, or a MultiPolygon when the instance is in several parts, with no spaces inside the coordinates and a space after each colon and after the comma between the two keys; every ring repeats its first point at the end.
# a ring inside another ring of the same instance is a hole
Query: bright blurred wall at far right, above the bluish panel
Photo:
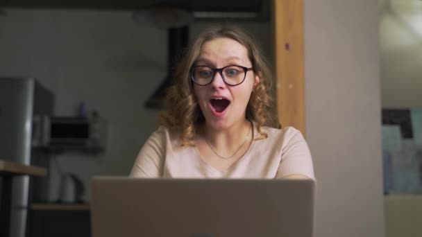
{"type": "Polygon", "coordinates": [[[382,107],[422,109],[422,1],[379,3],[382,107]]]}

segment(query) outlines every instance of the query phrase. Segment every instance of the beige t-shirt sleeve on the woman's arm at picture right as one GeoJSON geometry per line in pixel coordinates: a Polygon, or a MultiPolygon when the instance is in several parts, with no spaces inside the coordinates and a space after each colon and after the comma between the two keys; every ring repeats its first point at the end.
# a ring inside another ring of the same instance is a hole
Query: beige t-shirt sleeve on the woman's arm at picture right
{"type": "Polygon", "coordinates": [[[295,128],[287,128],[282,142],[281,161],[276,178],[305,175],[315,179],[311,153],[301,132],[295,128]]]}

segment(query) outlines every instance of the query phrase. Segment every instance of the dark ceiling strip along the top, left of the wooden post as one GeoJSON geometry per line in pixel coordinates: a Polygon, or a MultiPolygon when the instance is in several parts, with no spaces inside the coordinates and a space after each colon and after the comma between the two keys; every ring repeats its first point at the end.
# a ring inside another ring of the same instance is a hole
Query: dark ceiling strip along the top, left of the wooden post
{"type": "Polygon", "coordinates": [[[122,10],[181,8],[196,20],[269,21],[269,0],[0,0],[1,8],[122,10]]]}

